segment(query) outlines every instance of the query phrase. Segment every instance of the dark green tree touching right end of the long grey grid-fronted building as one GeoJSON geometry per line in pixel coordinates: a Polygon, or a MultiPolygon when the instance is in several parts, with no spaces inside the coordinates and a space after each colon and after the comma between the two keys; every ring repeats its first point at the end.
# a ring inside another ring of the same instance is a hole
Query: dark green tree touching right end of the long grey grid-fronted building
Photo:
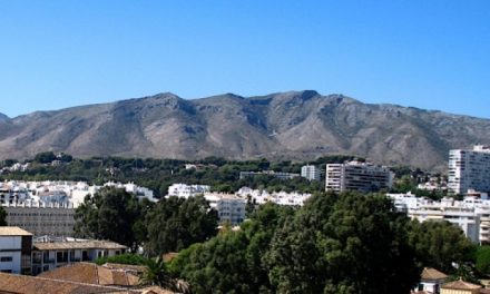
{"type": "Polygon", "coordinates": [[[77,208],[75,234],[136,248],[138,241],[133,226],[141,217],[136,196],[125,189],[102,188],[92,197],[87,196],[77,208]]]}

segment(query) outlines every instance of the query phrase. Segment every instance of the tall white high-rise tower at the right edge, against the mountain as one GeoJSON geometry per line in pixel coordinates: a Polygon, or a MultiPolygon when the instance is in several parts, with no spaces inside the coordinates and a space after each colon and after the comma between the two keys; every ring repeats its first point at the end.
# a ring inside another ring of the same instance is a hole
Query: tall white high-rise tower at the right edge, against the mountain
{"type": "Polygon", "coordinates": [[[449,151],[448,189],[460,195],[469,189],[490,192],[490,146],[449,151]]]}

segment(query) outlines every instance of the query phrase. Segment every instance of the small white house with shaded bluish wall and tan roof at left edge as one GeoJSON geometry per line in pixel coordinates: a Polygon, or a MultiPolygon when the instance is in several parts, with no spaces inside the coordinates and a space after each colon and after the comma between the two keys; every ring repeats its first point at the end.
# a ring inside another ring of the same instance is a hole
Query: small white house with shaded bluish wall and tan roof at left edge
{"type": "Polygon", "coordinates": [[[14,226],[0,226],[0,272],[30,274],[32,234],[14,226]]]}

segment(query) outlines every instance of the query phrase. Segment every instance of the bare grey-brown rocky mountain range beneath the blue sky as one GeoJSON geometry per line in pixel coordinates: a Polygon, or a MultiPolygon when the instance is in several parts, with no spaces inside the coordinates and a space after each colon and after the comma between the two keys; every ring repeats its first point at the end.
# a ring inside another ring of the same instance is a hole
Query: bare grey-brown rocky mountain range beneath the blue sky
{"type": "Polygon", "coordinates": [[[490,120],[313,90],[183,99],[165,92],[9,118],[0,158],[40,151],[76,157],[313,159],[346,154],[388,165],[443,168],[448,151],[490,143],[490,120]]]}

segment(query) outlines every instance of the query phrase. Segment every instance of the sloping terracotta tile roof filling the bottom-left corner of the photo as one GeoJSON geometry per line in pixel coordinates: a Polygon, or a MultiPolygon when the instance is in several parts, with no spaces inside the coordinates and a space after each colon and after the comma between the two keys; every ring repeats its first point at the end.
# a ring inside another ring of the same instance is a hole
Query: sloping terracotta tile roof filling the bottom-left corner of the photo
{"type": "Polygon", "coordinates": [[[16,294],[137,294],[140,290],[133,291],[126,288],[90,285],[69,281],[50,280],[38,276],[13,275],[0,273],[0,293],[16,294]]]}

